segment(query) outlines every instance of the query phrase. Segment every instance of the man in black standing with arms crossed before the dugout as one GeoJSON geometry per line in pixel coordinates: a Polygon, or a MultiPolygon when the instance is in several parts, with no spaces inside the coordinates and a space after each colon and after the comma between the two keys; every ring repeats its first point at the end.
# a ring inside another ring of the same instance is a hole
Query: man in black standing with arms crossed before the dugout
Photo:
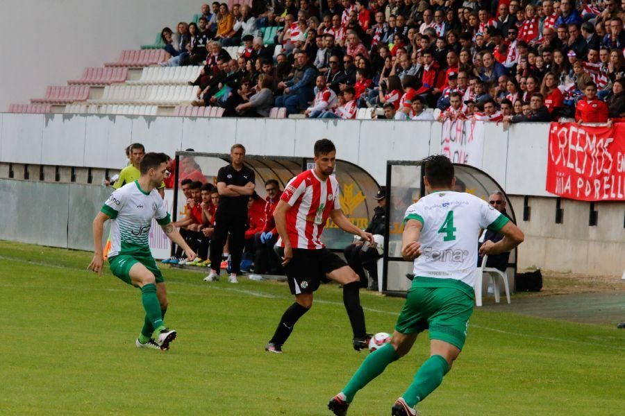
{"type": "MultiPolygon", "coordinates": [[[[231,275],[240,272],[241,254],[247,227],[247,202],[256,186],[253,171],[243,164],[244,146],[242,144],[232,146],[230,157],[231,164],[220,168],[219,173],[217,173],[219,206],[215,212],[215,232],[210,241],[210,268],[212,271],[209,277],[214,274],[219,276],[219,263],[222,260],[222,250],[224,250],[228,232],[230,233],[231,275]]],[[[207,281],[212,281],[212,279],[207,281]]],[[[236,277],[234,281],[231,279],[231,283],[235,282],[236,277]]]]}

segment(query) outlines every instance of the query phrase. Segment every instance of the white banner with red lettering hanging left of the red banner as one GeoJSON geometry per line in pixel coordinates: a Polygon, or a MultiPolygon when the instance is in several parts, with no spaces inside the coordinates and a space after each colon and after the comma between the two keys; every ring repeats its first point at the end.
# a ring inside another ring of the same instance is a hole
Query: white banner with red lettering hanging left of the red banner
{"type": "Polygon", "coordinates": [[[451,162],[481,168],[483,150],[483,121],[447,120],[443,123],[440,154],[449,157],[451,162]]]}

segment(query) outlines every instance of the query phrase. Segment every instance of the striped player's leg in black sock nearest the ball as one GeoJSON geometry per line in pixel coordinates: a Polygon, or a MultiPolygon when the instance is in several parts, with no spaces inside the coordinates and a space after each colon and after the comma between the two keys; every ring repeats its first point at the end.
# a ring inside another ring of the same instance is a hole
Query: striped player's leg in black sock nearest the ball
{"type": "Polygon", "coordinates": [[[365,311],[360,306],[360,277],[342,259],[329,250],[322,254],[319,261],[326,268],[326,275],[343,286],[343,304],[353,331],[353,348],[360,351],[360,349],[366,348],[369,343],[365,311]]]}

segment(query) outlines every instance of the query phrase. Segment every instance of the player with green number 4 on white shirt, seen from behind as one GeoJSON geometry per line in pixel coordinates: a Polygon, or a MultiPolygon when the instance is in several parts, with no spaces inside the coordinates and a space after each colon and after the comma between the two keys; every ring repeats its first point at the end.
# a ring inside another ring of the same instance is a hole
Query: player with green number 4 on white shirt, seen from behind
{"type": "Polygon", "coordinates": [[[408,354],[417,334],[428,329],[430,358],[408,390],[395,401],[392,415],[416,415],[415,406],[442,382],[465,345],[474,304],[474,272],[480,229],[501,232],[503,240],[485,242],[482,254],[507,252],[522,243],[521,230],[487,202],[451,191],[456,180],[445,156],[424,160],[427,196],[408,207],[401,254],[414,260],[415,279],[397,319],[392,340],[369,354],[347,386],[331,399],[335,415],[347,414],[356,392],[408,354]]]}

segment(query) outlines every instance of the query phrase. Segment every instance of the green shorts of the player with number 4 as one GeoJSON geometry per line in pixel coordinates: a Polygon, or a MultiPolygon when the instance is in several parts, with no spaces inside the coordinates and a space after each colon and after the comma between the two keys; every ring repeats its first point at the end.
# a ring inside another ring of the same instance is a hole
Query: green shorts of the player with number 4
{"type": "Polygon", "coordinates": [[[431,340],[442,340],[462,349],[474,300],[467,284],[450,280],[415,277],[395,330],[419,333],[429,329],[431,340]]]}

